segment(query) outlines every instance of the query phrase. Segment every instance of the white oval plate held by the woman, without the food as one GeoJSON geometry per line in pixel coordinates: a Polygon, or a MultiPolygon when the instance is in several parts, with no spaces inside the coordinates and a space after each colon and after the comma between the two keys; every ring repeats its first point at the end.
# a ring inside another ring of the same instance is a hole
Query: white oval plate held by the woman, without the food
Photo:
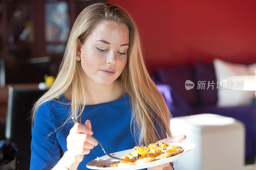
{"type": "MultiPolygon", "coordinates": [[[[168,162],[172,162],[178,158],[180,158],[181,156],[183,156],[185,153],[187,153],[188,151],[192,150],[195,148],[196,144],[194,143],[189,143],[189,142],[180,142],[180,143],[165,143],[166,145],[179,145],[181,149],[183,149],[184,151],[179,153],[178,155],[175,156],[171,156],[169,158],[164,158],[164,159],[159,159],[159,160],[155,160],[152,162],[148,162],[148,163],[144,163],[144,164],[138,164],[138,165],[130,165],[130,166],[123,166],[123,167],[100,167],[100,166],[107,166],[110,163],[114,162],[114,161],[118,161],[116,159],[112,159],[109,158],[107,155],[100,157],[99,162],[97,162],[97,158],[92,160],[91,162],[89,162],[86,167],[90,168],[90,169],[118,169],[118,170],[122,170],[122,169],[127,169],[129,168],[129,170],[135,170],[135,169],[143,169],[143,168],[148,168],[148,167],[152,167],[152,166],[157,166],[157,165],[162,165],[168,162]]],[[[115,157],[118,158],[122,158],[123,156],[127,156],[129,153],[132,152],[132,149],[128,149],[125,151],[120,151],[120,152],[116,152],[114,153],[115,157]]]]}

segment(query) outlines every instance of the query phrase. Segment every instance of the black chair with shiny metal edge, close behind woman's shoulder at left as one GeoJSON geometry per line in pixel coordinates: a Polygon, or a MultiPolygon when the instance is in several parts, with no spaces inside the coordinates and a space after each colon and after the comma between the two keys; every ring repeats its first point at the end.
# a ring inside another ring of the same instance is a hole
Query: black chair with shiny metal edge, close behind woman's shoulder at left
{"type": "Polygon", "coordinates": [[[29,169],[31,124],[30,114],[34,102],[46,91],[10,86],[4,136],[17,144],[16,169],[29,169]]]}

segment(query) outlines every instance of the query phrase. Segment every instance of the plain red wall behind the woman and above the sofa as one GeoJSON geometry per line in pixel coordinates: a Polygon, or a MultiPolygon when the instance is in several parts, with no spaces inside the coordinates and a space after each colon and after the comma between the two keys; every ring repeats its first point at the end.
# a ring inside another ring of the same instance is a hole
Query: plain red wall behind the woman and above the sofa
{"type": "Polygon", "coordinates": [[[157,66],[256,62],[255,0],[108,0],[139,26],[145,61],[157,66]],[[157,2],[157,3],[156,3],[157,2]]]}

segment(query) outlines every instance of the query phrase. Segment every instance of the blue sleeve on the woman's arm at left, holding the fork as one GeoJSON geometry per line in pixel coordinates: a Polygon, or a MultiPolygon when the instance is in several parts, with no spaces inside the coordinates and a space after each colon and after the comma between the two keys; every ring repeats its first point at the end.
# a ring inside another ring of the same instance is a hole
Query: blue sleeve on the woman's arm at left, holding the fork
{"type": "Polygon", "coordinates": [[[33,124],[30,169],[52,169],[60,160],[61,149],[53,131],[49,104],[46,102],[38,107],[33,124]]]}

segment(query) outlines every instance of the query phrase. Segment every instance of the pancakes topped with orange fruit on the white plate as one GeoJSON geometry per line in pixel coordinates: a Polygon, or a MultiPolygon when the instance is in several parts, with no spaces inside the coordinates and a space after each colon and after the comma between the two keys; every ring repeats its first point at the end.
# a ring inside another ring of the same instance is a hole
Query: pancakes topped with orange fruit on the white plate
{"type": "Polygon", "coordinates": [[[183,149],[177,145],[166,145],[162,142],[148,145],[137,145],[132,149],[132,153],[123,158],[124,161],[116,161],[109,166],[129,166],[134,164],[143,164],[159,159],[168,158],[183,152],[183,149]]]}

